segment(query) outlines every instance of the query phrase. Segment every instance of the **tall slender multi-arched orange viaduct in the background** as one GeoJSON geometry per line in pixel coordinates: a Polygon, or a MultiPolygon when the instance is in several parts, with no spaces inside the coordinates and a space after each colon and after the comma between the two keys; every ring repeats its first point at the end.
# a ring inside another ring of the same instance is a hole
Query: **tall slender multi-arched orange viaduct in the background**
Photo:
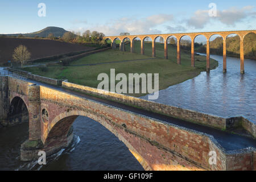
{"type": "Polygon", "coordinates": [[[191,66],[195,67],[195,49],[194,43],[195,38],[199,35],[205,36],[207,39],[207,72],[210,71],[210,38],[213,35],[220,35],[223,39],[223,72],[226,72],[226,38],[230,34],[237,34],[240,37],[240,61],[241,73],[245,73],[244,67],[244,53],[243,53],[243,40],[247,34],[256,33],[256,30],[246,30],[246,31],[221,31],[221,32],[195,32],[195,33],[180,33],[180,34],[153,34],[153,35],[125,35],[125,36],[105,36],[104,39],[110,39],[112,42],[112,47],[115,48],[115,40],[121,40],[119,46],[121,51],[125,50],[125,40],[130,39],[131,52],[134,52],[134,40],[141,39],[141,54],[144,55],[144,41],[146,38],[151,38],[152,40],[152,57],[155,57],[155,41],[156,38],[162,37],[164,39],[164,57],[168,59],[168,38],[174,36],[177,40],[177,64],[181,64],[180,59],[180,39],[183,36],[189,36],[191,38],[191,66]]]}

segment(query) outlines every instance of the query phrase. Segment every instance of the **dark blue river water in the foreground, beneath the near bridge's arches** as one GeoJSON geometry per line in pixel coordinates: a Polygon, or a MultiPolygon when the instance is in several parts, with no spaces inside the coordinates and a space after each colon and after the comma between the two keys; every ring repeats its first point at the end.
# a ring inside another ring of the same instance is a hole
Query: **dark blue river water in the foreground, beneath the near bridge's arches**
{"type": "Polygon", "coordinates": [[[19,149],[28,138],[28,123],[0,128],[0,170],[143,170],[128,148],[109,130],[90,118],[73,123],[74,143],[47,159],[46,166],[20,162],[19,149]]]}

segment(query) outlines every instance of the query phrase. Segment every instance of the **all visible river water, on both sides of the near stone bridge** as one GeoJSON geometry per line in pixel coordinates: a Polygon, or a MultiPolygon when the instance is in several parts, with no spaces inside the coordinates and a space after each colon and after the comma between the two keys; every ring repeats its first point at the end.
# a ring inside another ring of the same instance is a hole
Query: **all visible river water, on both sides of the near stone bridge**
{"type": "MultiPolygon", "coordinates": [[[[181,84],[160,90],[156,102],[197,110],[222,117],[245,115],[256,120],[256,61],[245,60],[245,75],[240,74],[240,60],[227,58],[227,73],[219,67],[181,84]]],[[[146,96],[142,97],[147,99],[146,96]]],[[[0,170],[143,170],[128,148],[100,123],[79,117],[73,123],[74,142],[47,160],[19,161],[19,148],[28,138],[28,123],[0,128],[0,170]]]]}

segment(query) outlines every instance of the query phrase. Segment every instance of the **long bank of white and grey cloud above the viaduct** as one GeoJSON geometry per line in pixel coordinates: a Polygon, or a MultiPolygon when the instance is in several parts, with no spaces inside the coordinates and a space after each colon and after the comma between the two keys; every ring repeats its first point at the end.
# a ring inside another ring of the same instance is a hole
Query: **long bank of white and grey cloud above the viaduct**
{"type": "Polygon", "coordinates": [[[233,26],[233,28],[235,28],[240,22],[243,22],[248,26],[249,24],[252,24],[251,21],[255,18],[256,12],[254,7],[245,6],[241,8],[231,7],[226,10],[217,10],[216,17],[210,17],[209,9],[207,9],[197,10],[191,17],[187,18],[176,19],[172,14],[155,14],[144,18],[130,16],[109,20],[109,22],[104,24],[87,23],[87,27],[82,27],[81,24],[86,23],[86,20],[74,20],[73,27],[69,29],[80,32],[84,32],[85,30],[96,30],[98,32],[103,32],[106,36],[119,35],[120,32],[129,32],[131,35],[161,34],[186,32],[188,30],[200,31],[207,26],[209,26],[209,28],[221,26],[224,28],[233,26]],[[75,24],[79,24],[79,26],[74,27],[75,24]]]}

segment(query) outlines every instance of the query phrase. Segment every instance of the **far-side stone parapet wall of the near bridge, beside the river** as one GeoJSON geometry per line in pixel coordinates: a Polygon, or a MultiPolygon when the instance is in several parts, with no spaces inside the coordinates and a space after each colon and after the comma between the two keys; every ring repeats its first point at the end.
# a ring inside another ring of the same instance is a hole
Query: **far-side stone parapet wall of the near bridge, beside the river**
{"type": "MultiPolygon", "coordinates": [[[[86,94],[93,94],[95,96],[104,97],[108,100],[121,102],[123,104],[141,107],[144,110],[152,111],[155,113],[161,113],[169,115],[171,117],[184,119],[185,121],[199,123],[201,125],[207,125],[210,127],[216,127],[217,129],[226,129],[232,127],[238,127],[241,125],[241,118],[222,118],[212,114],[204,114],[198,111],[182,109],[180,107],[159,104],[157,102],[142,100],[141,98],[126,96],[124,94],[118,94],[113,92],[106,92],[89,86],[82,86],[73,84],[71,82],[63,81],[62,86],[67,89],[72,89],[86,94]]],[[[249,131],[254,137],[255,135],[255,124],[250,122],[248,119],[242,119],[243,127],[249,131]]]]}

